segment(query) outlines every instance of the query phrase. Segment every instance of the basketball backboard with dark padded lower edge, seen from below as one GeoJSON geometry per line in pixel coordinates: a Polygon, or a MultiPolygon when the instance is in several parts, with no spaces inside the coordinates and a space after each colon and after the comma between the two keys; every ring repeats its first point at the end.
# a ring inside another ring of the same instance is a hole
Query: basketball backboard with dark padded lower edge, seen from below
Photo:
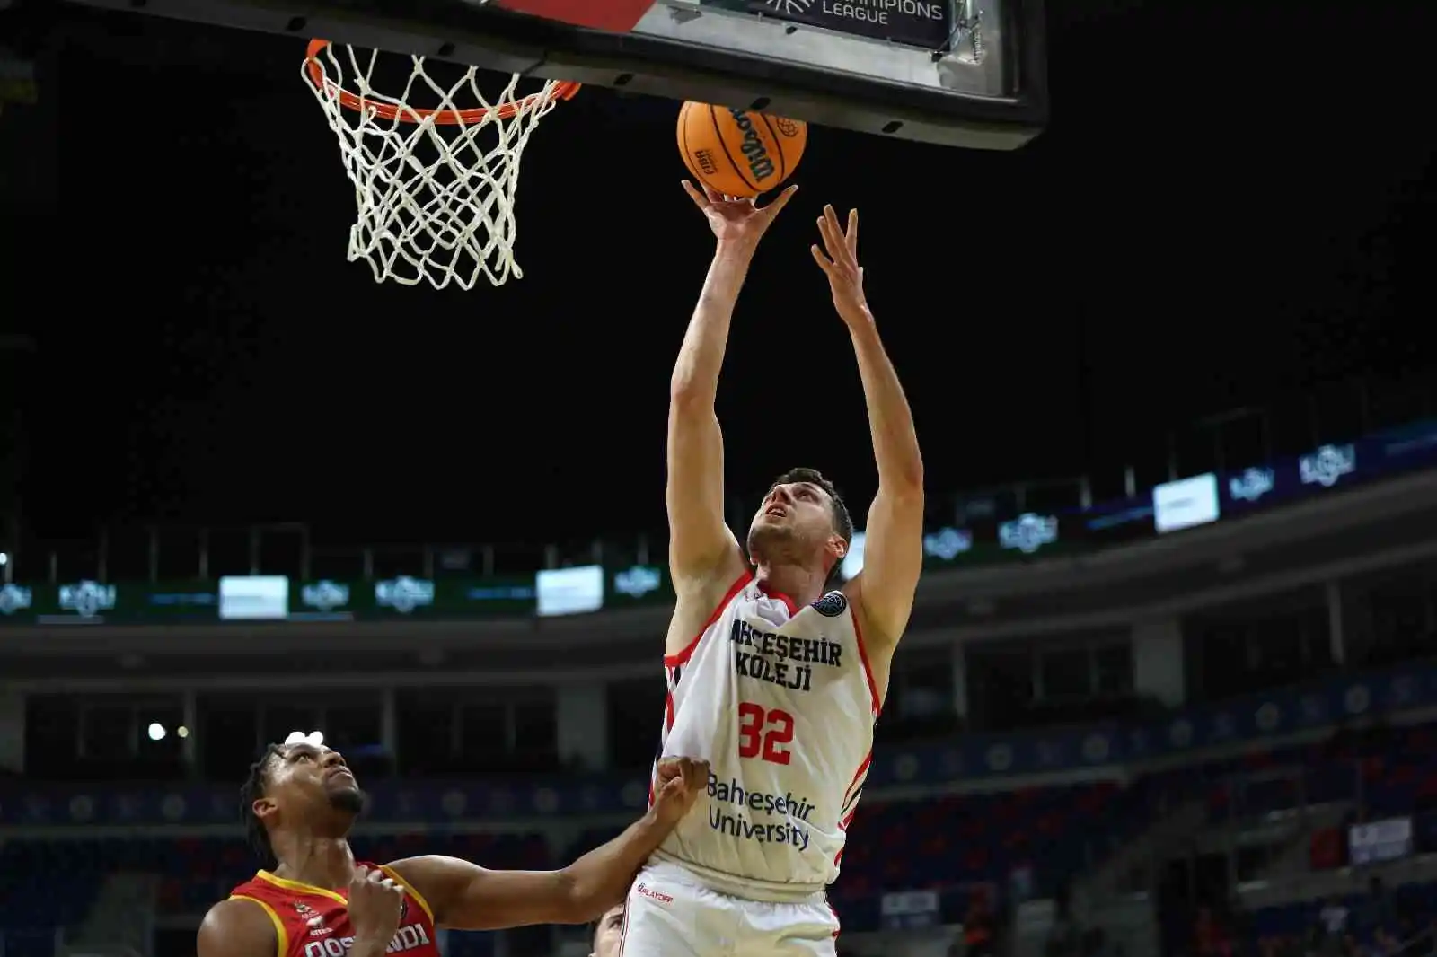
{"type": "Polygon", "coordinates": [[[75,1],[953,147],[1048,111],[1040,0],[75,1]]]}

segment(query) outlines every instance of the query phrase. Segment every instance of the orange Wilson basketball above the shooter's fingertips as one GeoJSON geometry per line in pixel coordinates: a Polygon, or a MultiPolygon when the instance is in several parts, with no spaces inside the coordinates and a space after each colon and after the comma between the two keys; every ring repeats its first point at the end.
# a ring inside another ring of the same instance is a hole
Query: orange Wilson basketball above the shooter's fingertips
{"type": "Polygon", "coordinates": [[[808,124],[753,111],[684,103],[678,152],[694,178],[726,195],[756,197],[783,184],[803,158],[808,124]]]}

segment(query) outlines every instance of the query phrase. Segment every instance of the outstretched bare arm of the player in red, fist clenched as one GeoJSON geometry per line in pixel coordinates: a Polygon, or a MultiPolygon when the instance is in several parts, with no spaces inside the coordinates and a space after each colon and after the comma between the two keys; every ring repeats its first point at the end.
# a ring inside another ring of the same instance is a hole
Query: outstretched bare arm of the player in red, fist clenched
{"type": "Polygon", "coordinates": [[[661,783],[647,815],[559,871],[486,871],[468,861],[437,855],[395,861],[391,868],[428,901],[440,927],[500,930],[598,920],[624,900],[634,875],[707,789],[708,764],[688,759],[660,762],[658,777],[661,783]]]}

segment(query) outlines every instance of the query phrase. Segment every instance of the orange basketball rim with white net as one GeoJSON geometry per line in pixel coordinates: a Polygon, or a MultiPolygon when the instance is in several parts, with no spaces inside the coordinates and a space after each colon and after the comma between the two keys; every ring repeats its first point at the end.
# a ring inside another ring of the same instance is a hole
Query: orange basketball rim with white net
{"type": "Polygon", "coordinates": [[[513,251],[519,161],[539,121],[579,83],[547,80],[520,96],[523,78],[514,75],[489,99],[476,68],[456,66],[460,78],[440,83],[425,57],[411,56],[402,92],[389,96],[371,85],[378,56],[310,40],[303,63],[355,187],[349,262],[368,262],[375,282],[405,286],[473,289],[480,276],[494,286],[510,274],[522,279],[513,251]],[[418,106],[415,96],[435,102],[418,106]]]}

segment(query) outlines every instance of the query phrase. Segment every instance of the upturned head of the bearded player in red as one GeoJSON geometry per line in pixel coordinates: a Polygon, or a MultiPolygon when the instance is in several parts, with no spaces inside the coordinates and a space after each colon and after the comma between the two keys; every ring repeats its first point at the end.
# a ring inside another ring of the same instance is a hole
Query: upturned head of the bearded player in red
{"type": "Polygon", "coordinates": [[[339,752],[308,739],[270,744],[240,789],[256,851],[274,858],[277,832],[342,838],[364,810],[364,792],[339,752]]]}

